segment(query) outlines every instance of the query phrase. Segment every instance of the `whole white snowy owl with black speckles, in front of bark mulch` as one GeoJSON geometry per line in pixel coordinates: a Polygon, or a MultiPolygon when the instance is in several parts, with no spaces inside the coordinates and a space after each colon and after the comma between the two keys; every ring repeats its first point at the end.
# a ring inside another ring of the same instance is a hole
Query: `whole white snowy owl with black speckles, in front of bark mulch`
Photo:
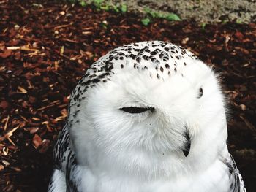
{"type": "Polygon", "coordinates": [[[48,191],[246,191],[217,74],[167,42],[118,47],[72,92],[48,191]]]}

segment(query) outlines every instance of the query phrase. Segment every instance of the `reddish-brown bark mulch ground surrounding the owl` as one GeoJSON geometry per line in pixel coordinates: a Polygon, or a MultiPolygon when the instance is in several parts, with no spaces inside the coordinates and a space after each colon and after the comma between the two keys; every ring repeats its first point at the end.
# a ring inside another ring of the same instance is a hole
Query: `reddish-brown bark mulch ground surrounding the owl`
{"type": "Polygon", "coordinates": [[[132,13],[56,1],[0,1],[0,191],[46,191],[69,94],[118,45],[159,39],[193,50],[222,73],[230,153],[256,189],[256,25],[193,20],[148,26],[132,13]]]}

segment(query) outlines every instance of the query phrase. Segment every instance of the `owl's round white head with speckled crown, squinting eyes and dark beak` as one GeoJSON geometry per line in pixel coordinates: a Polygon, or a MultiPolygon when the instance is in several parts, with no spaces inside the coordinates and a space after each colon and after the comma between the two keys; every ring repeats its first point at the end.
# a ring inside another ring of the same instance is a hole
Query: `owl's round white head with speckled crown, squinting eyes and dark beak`
{"type": "Polygon", "coordinates": [[[183,159],[203,150],[199,140],[220,145],[226,137],[217,137],[225,110],[214,72],[165,42],[126,45],[100,58],[73,91],[68,121],[80,158],[94,148],[183,159]]]}

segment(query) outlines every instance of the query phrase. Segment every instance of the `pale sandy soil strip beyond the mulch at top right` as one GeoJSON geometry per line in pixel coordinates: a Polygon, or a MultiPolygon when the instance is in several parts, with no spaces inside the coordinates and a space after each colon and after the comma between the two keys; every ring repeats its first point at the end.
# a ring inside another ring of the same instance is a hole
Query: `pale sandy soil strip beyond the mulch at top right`
{"type": "Polygon", "coordinates": [[[183,20],[194,18],[199,23],[256,21],[256,1],[253,0],[105,0],[105,4],[127,4],[129,11],[142,15],[145,15],[145,8],[162,13],[174,12],[183,20]]]}

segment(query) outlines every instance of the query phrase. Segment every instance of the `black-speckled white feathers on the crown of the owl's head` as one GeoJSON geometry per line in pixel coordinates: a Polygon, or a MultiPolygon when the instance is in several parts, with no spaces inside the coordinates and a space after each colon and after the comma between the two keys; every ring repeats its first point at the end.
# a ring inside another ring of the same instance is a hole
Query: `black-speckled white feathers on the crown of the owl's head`
{"type": "MultiPolygon", "coordinates": [[[[80,107],[80,102],[86,99],[84,93],[88,88],[93,88],[99,82],[108,82],[114,67],[120,69],[129,67],[138,71],[154,68],[155,72],[151,72],[149,76],[162,80],[164,76],[170,77],[173,73],[187,66],[187,58],[196,59],[196,56],[183,47],[167,42],[141,42],[117,47],[99,58],[86,71],[72,92],[69,109],[80,107]]],[[[74,119],[78,112],[80,111],[72,111],[74,119]]],[[[72,123],[74,119],[70,120],[69,123],[72,123]]]]}

